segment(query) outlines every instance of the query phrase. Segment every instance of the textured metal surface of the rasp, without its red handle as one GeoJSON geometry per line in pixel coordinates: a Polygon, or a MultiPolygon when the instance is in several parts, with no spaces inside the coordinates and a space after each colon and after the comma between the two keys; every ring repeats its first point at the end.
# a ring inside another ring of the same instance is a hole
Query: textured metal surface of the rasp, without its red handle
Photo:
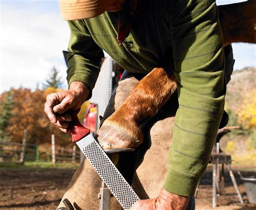
{"type": "Polygon", "coordinates": [[[118,171],[117,167],[114,166],[110,158],[107,157],[100,145],[93,141],[85,146],[82,151],[120,205],[124,209],[131,208],[139,200],[139,197],[118,171]]]}

